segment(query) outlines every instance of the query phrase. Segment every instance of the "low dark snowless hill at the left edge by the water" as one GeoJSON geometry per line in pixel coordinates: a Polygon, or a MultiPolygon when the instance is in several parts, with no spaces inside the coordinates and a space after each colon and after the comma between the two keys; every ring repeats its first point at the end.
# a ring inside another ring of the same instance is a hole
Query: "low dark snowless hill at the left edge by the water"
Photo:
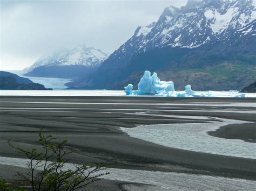
{"type": "Polygon", "coordinates": [[[5,90],[51,90],[45,88],[42,84],[33,83],[26,77],[16,74],[0,71],[0,89],[5,90]]]}

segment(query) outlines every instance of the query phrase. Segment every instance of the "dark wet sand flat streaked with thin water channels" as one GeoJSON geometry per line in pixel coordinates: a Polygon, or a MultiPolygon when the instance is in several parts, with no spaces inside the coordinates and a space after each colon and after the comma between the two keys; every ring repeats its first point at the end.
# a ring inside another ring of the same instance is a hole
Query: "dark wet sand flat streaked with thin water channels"
{"type": "MultiPolygon", "coordinates": [[[[24,158],[12,150],[6,140],[11,139],[26,148],[37,147],[38,129],[44,126],[45,133],[68,140],[69,150],[72,151],[70,162],[77,164],[109,160],[117,162],[112,166],[114,168],[256,180],[254,159],[160,146],[132,138],[119,130],[119,127],[133,128],[147,124],[202,122],[202,119],[186,116],[220,117],[248,123],[242,124],[242,130],[238,125],[227,125],[211,132],[211,136],[248,141],[252,139],[248,131],[255,130],[255,101],[255,98],[2,96],[0,156],[24,158]],[[235,103],[247,104],[236,106],[235,103]]],[[[203,122],[214,120],[208,118],[203,122]]],[[[0,175],[4,176],[1,172],[0,175]]]]}

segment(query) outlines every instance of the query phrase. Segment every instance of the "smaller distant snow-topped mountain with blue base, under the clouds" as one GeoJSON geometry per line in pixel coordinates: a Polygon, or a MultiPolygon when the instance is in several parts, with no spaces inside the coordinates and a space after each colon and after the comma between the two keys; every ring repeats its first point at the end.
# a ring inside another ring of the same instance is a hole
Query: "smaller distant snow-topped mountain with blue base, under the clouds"
{"type": "Polygon", "coordinates": [[[100,49],[79,45],[71,50],[64,49],[42,56],[32,66],[25,68],[24,71],[28,72],[25,74],[26,76],[75,77],[76,69],[80,70],[78,74],[82,70],[91,71],[99,67],[105,59],[107,59],[107,55],[100,51],[100,49]],[[64,73],[56,72],[55,75],[53,68],[55,72],[56,68],[58,68],[64,73]],[[68,68],[68,70],[64,71],[64,68],[68,68]]]}

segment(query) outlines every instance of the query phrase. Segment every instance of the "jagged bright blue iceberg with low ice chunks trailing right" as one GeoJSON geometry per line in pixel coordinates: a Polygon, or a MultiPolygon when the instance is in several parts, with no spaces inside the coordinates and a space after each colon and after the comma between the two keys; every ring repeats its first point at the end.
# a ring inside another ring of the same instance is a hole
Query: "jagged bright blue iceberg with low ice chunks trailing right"
{"type": "Polygon", "coordinates": [[[124,87],[126,95],[154,95],[164,97],[246,97],[246,94],[228,94],[220,91],[194,91],[191,85],[188,84],[184,91],[176,91],[174,89],[174,83],[172,81],[160,81],[157,73],[153,73],[145,70],[144,75],[138,83],[138,89],[132,90],[133,85],[128,84],[124,87]]]}

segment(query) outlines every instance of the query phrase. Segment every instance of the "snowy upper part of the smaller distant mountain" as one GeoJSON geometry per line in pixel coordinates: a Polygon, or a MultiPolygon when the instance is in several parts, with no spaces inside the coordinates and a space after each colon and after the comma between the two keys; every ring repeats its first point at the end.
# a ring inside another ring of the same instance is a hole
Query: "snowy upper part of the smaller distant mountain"
{"type": "Polygon", "coordinates": [[[26,68],[31,71],[40,66],[88,66],[98,67],[107,55],[93,47],[79,45],[71,50],[62,50],[39,58],[32,66],[26,68]]]}

